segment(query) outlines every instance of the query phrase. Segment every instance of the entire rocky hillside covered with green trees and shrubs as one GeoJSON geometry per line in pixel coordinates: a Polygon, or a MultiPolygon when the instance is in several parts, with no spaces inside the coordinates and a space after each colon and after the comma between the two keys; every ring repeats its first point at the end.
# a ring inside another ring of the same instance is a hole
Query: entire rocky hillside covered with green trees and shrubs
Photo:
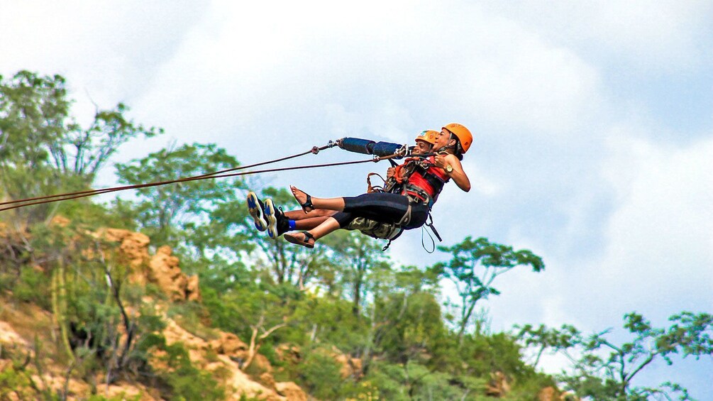
{"type": "MultiPolygon", "coordinates": [[[[126,113],[81,126],[61,76],[0,77],[0,198],[92,188],[121,145],[162,133],[126,113]]],[[[138,184],[236,166],[192,143],[114,167],[138,184]]],[[[632,379],[712,354],[707,313],[669,328],[628,314],[622,344],[567,325],[492,333],[483,306],[498,281],[545,269],[530,250],[467,237],[439,248],[441,263],[403,266],[349,231],[307,250],[258,235],[250,187],[295,205],[232,177],[0,211],[0,400],[689,399],[632,379]],[[540,372],[545,352],[571,368],[540,372]]]]}

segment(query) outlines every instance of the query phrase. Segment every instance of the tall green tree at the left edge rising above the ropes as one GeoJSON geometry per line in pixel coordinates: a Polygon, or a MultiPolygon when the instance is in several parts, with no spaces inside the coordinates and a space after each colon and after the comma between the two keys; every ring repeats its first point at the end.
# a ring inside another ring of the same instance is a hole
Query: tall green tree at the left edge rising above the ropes
{"type": "MultiPolygon", "coordinates": [[[[97,108],[83,128],[71,116],[66,81],[19,71],[0,76],[0,185],[10,200],[79,191],[91,187],[96,172],[118,147],[138,136],[162,131],[125,117],[128,108],[97,108]]],[[[58,203],[15,209],[12,223],[45,222],[58,203]]]]}

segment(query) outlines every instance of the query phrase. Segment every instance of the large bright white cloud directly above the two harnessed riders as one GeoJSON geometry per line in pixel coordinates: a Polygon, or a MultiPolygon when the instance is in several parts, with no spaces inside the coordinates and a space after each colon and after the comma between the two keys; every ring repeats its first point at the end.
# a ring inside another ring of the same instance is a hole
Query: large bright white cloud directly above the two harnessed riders
{"type": "Polygon", "coordinates": [[[569,133],[598,107],[590,66],[473,7],[470,18],[428,6],[269,7],[218,3],[142,106],[171,94],[176,119],[198,114],[223,131],[277,113],[322,121],[327,104],[392,141],[468,120],[569,133]]]}

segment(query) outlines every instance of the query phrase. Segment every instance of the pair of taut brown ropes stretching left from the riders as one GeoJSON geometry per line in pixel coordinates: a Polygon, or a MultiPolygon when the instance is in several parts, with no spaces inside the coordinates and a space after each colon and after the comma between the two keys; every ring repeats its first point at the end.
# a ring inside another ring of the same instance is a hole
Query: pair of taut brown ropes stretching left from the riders
{"type": "MultiPolygon", "coordinates": [[[[323,148],[328,148],[331,146],[325,146],[323,148]]],[[[297,156],[303,156],[307,153],[314,153],[317,154],[317,151],[322,150],[323,148],[317,148],[314,147],[312,148],[312,151],[307,151],[304,153],[299,153],[298,155],[294,156],[287,156],[286,158],[279,158],[275,159],[274,161],[267,161],[267,162],[262,162],[262,163],[255,163],[250,166],[241,166],[237,168],[229,168],[226,170],[222,171],[216,171],[214,173],[207,173],[207,174],[202,174],[200,176],[193,176],[193,177],[186,177],[186,178],[178,178],[175,180],[169,180],[169,181],[157,181],[153,183],[143,183],[143,184],[135,184],[135,185],[130,185],[130,186],[119,186],[119,187],[113,187],[113,188],[102,188],[98,190],[91,190],[91,191],[79,191],[79,192],[74,192],[74,193],[61,193],[57,195],[52,195],[52,196],[41,196],[37,198],[27,198],[27,199],[21,199],[21,200],[13,200],[9,202],[4,202],[0,203],[0,205],[8,205],[8,204],[14,204],[12,206],[6,207],[6,208],[0,208],[0,212],[4,210],[12,210],[16,208],[22,208],[24,206],[30,206],[30,205],[41,205],[43,203],[52,203],[52,202],[59,202],[61,200],[71,200],[71,199],[78,199],[78,198],[86,198],[88,196],[94,196],[94,195],[101,195],[103,193],[111,193],[111,192],[117,192],[117,191],[125,191],[128,189],[138,189],[138,188],[149,188],[153,186],[163,186],[163,185],[168,185],[172,183],[182,183],[182,182],[189,182],[189,181],[198,181],[198,180],[205,180],[205,179],[212,179],[212,178],[227,178],[227,177],[237,177],[237,176],[248,176],[252,174],[259,174],[259,173],[272,173],[275,171],[289,171],[289,170],[301,170],[304,168],[322,168],[322,167],[331,167],[331,166],[346,166],[349,164],[359,164],[359,163],[376,163],[377,161],[381,160],[388,160],[391,158],[396,158],[396,157],[401,157],[401,155],[389,155],[389,156],[376,156],[374,158],[366,159],[366,160],[360,160],[360,161],[345,161],[345,162],[338,162],[338,163],[324,163],[324,164],[315,164],[315,165],[310,165],[310,166],[294,166],[294,167],[282,167],[282,168],[270,168],[266,170],[258,170],[258,171],[245,171],[243,173],[229,173],[225,174],[230,171],[236,171],[236,170],[241,170],[245,168],[250,168],[254,166],[262,166],[265,164],[269,163],[276,163],[277,161],[284,161],[289,158],[294,158],[297,156]],[[316,151],[315,151],[316,150],[316,151]],[[21,203],[21,204],[16,204],[16,203],[21,203]]]]}

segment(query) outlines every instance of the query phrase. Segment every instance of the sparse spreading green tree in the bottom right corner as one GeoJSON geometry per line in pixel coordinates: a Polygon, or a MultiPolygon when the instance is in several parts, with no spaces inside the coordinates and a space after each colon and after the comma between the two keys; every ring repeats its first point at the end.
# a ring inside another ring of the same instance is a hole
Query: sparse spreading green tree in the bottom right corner
{"type": "Polygon", "coordinates": [[[672,365],[674,355],[692,355],[696,359],[713,355],[713,315],[682,312],[669,318],[668,328],[655,328],[638,313],[627,313],[624,320],[624,328],[633,338],[620,344],[608,338],[612,329],[583,337],[568,325],[560,330],[528,325],[518,335],[525,345],[537,347],[538,353],[550,348],[568,357],[573,370],[558,379],[579,397],[647,400],[660,395],[670,400],[672,394],[678,393],[680,400],[688,400],[687,390],[677,383],[640,387],[633,380],[658,359],[672,365]]]}

